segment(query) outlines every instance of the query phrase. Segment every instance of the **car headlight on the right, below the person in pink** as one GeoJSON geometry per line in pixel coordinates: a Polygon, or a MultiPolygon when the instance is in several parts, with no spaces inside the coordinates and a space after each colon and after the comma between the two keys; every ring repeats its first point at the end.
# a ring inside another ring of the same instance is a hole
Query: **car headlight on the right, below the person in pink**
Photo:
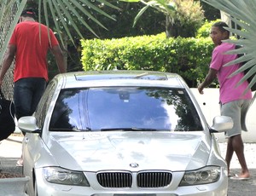
{"type": "Polygon", "coordinates": [[[208,166],[200,170],[186,171],[179,186],[192,186],[217,182],[220,176],[220,167],[208,166]]]}

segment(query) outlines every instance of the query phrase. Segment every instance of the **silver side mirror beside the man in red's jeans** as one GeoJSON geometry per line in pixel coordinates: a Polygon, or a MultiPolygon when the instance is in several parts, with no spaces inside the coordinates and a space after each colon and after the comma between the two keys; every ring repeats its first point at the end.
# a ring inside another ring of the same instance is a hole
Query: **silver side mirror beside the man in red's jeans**
{"type": "Polygon", "coordinates": [[[37,119],[33,116],[21,117],[18,120],[18,127],[21,131],[26,133],[40,133],[37,125],[37,119]]]}

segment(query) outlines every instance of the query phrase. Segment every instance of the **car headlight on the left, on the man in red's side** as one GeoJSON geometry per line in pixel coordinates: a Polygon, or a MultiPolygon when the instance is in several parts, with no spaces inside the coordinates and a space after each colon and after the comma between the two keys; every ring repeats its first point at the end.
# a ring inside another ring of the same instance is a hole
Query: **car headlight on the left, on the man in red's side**
{"type": "Polygon", "coordinates": [[[90,187],[83,172],[45,167],[43,173],[45,180],[51,183],[90,187]]]}

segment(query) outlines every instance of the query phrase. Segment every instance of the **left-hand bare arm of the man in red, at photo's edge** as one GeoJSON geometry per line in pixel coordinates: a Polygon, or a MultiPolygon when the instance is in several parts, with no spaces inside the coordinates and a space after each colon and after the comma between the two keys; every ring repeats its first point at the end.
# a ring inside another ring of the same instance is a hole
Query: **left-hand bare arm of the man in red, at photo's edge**
{"type": "Polygon", "coordinates": [[[12,62],[15,59],[16,46],[9,44],[6,54],[3,58],[3,64],[0,70],[0,85],[3,84],[3,77],[5,73],[9,70],[9,67],[12,65],[12,62]]]}

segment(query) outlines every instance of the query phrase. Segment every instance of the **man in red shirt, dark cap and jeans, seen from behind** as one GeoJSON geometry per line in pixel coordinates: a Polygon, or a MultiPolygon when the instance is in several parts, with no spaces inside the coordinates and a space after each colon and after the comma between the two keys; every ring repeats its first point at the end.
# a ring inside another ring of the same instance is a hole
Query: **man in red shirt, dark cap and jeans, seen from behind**
{"type": "Polygon", "coordinates": [[[17,119],[32,115],[38,106],[48,81],[49,50],[55,55],[59,72],[66,72],[64,57],[54,33],[36,21],[33,9],[25,9],[20,15],[20,23],[15,26],[0,71],[1,85],[15,59],[14,101],[17,119]]]}

